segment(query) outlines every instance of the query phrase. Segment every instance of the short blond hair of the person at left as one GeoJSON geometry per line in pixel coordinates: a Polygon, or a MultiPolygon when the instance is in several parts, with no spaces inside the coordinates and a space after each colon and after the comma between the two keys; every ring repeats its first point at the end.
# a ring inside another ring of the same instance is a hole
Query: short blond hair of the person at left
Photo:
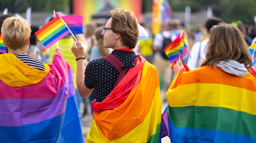
{"type": "Polygon", "coordinates": [[[13,50],[23,47],[30,37],[31,28],[29,24],[19,17],[5,19],[2,28],[2,39],[13,50]]]}

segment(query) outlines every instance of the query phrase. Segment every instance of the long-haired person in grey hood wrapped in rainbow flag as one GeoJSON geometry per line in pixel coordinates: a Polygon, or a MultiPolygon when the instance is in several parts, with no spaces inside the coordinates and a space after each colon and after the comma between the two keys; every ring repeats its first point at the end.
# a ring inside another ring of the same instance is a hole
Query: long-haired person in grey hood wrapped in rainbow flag
{"type": "Polygon", "coordinates": [[[252,61],[244,35],[225,23],[209,34],[200,68],[174,66],[176,79],[166,93],[170,140],[255,142],[256,78],[248,72],[252,61]]]}

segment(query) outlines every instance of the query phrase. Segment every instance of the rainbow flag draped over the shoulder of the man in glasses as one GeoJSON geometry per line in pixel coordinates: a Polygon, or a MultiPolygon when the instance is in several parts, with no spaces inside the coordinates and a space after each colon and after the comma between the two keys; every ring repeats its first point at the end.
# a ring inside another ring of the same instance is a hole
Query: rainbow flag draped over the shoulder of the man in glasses
{"type": "Polygon", "coordinates": [[[103,102],[92,102],[92,108],[95,119],[87,143],[161,141],[158,74],[141,56],[103,102]]]}

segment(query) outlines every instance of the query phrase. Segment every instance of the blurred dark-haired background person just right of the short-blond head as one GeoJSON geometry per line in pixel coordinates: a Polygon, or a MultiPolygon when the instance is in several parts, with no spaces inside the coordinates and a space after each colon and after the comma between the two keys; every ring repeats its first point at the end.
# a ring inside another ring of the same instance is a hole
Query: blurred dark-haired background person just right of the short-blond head
{"type": "Polygon", "coordinates": [[[31,26],[31,37],[30,37],[30,44],[28,52],[26,53],[29,56],[32,56],[32,58],[37,59],[39,61],[43,60],[43,54],[41,50],[36,46],[37,42],[40,42],[40,40],[35,36],[35,32],[39,30],[38,26],[31,26]]]}

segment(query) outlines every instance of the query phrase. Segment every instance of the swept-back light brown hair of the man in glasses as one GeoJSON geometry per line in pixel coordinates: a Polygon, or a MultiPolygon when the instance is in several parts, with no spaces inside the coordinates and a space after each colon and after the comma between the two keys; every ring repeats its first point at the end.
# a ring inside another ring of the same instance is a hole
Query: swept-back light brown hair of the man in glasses
{"type": "Polygon", "coordinates": [[[133,49],[139,40],[138,20],[131,10],[114,8],[109,11],[112,30],[121,34],[121,44],[133,49]]]}

